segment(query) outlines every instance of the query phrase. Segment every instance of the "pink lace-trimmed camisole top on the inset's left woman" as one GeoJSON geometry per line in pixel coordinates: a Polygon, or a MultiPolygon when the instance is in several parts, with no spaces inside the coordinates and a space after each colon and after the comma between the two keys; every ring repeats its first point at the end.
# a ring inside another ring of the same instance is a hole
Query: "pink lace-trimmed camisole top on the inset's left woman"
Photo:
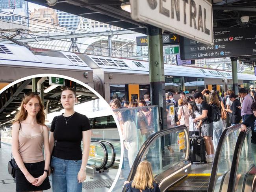
{"type": "Polygon", "coordinates": [[[27,135],[22,131],[22,127],[24,128],[25,126],[25,123],[21,123],[19,131],[19,153],[22,161],[25,163],[44,161],[43,126],[39,125],[35,127],[34,129],[41,129],[41,132],[33,136],[27,135]]]}

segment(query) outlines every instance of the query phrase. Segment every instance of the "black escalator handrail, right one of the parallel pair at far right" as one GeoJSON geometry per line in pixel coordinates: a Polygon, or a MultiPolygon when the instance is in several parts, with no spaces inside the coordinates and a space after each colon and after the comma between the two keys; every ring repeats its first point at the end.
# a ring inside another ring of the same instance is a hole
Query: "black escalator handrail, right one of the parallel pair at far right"
{"type": "Polygon", "coordinates": [[[246,136],[251,131],[252,131],[251,128],[247,127],[247,130],[241,131],[237,138],[236,147],[234,150],[234,156],[233,156],[232,165],[231,165],[231,170],[230,170],[230,177],[229,177],[227,192],[233,192],[234,188],[236,186],[236,174],[237,174],[237,169],[239,166],[239,159],[240,159],[241,151],[243,148],[243,143],[245,141],[246,136]]]}

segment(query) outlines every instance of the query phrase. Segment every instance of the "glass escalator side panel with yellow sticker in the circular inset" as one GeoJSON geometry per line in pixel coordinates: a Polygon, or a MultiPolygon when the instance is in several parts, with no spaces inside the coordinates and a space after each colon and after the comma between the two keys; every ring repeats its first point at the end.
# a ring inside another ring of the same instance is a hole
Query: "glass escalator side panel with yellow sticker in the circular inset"
{"type": "MultiPolygon", "coordinates": [[[[81,143],[81,148],[83,150],[83,142],[81,143]]],[[[102,169],[106,166],[107,161],[108,150],[106,145],[100,141],[91,141],[87,166],[102,169]]]]}

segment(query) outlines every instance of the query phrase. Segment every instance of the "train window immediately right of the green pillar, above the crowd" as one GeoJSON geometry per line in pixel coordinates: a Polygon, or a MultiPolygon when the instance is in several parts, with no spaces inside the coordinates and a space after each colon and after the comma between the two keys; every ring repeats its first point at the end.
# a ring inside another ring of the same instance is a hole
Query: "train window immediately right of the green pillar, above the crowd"
{"type": "Polygon", "coordinates": [[[182,92],[181,77],[165,76],[165,91],[173,94],[182,92]]]}

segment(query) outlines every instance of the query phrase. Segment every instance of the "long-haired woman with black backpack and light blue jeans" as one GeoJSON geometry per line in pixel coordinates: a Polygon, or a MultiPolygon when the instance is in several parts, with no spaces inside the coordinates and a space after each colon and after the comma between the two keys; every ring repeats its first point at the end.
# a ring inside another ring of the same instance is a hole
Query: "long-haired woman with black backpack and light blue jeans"
{"type": "Polygon", "coordinates": [[[209,104],[211,105],[211,116],[213,121],[213,146],[216,150],[219,139],[221,138],[221,134],[223,132],[224,124],[221,119],[221,104],[215,92],[211,93],[209,104]]]}

